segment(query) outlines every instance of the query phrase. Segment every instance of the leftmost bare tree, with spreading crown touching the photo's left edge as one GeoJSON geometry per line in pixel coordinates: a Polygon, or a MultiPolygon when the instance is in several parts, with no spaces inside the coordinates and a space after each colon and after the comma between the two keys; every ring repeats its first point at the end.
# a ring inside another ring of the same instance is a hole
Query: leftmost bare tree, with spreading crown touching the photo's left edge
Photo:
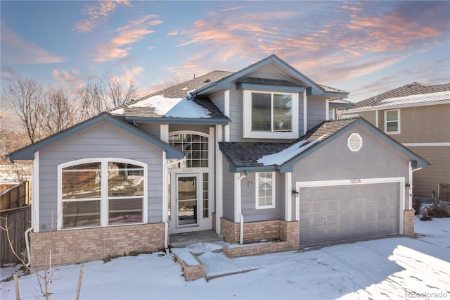
{"type": "Polygon", "coordinates": [[[39,118],[41,116],[42,86],[30,78],[18,78],[14,85],[3,89],[2,96],[8,99],[17,113],[21,127],[27,132],[30,142],[40,139],[39,118]]]}

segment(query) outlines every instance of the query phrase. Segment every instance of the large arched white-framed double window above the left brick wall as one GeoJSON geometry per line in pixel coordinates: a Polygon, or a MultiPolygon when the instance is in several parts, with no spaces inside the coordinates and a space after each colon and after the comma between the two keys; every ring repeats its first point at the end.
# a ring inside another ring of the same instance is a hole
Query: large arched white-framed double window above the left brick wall
{"type": "Polygon", "coordinates": [[[121,158],[58,166],[58,228],[146,222],[146,169],[121,158]]]}

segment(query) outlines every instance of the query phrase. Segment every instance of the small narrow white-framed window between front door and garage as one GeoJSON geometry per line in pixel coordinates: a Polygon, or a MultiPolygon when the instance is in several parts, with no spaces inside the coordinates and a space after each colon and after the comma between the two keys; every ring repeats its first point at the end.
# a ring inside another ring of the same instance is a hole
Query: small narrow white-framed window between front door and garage
{"type": "Polygon", "coordinates": [[[256,173],[256,209],[275,207],[275,173],[256,173]]]}

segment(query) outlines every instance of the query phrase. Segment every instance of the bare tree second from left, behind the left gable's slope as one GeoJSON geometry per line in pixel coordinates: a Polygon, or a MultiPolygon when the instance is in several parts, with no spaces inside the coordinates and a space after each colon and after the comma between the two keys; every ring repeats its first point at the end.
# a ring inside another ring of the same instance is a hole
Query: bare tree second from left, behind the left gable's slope
{"type": "Polygon", "coordinates": [[[39,124],[45,136],[53,135],[77,123],[76,106],[69,99],[68,93],[60,87],[49,87],[46,90],[40,111],[39,124]]]}

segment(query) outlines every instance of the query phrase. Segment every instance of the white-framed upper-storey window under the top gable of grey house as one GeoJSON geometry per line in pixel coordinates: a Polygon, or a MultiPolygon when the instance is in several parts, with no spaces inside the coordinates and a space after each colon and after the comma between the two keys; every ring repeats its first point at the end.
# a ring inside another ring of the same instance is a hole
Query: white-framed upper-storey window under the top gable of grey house
{"type": "Polygon", "coordinates": [[[298,94],[244,91],[244,137],[298,137],[298,94]]]}

